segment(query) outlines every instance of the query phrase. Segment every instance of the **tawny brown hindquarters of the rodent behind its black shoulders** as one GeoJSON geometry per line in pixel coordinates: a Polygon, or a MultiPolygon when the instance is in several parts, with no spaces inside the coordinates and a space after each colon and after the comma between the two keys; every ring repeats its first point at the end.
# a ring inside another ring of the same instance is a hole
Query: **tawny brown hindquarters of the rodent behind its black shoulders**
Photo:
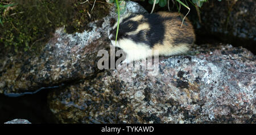
{"type": "Polygon", "coordinates": [[[162,55],[175,55],[185,53],[195,42],[195,32],[191,22],[183,15],[174,12],[156,13],[163,18],[164,40],[157,43],[152,49],[159,50],[162,55]],[[182,24],[182,27],[181,27],[182,24]]]}

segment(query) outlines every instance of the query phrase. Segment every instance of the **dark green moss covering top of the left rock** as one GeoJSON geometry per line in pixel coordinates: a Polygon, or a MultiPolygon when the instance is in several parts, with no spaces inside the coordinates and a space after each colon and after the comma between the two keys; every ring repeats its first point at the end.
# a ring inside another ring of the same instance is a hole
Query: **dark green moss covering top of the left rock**
{"type": "Polygon", "coordinates": [[[65,26],[68,33],[82,32],[93,20],[104,17],[110,5],[103,0],[93,7],[94,0],[5,0],[1,5],[16,3],[9,8],[0,8],[0,49],[36,51],[46,44],[57,27],[65,26]]]}

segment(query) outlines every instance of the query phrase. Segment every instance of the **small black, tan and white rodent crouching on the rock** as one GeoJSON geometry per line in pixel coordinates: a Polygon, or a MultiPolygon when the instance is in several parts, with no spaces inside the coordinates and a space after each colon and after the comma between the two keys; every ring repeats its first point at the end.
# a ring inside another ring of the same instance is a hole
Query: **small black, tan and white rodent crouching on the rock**
{"type": "Polygon", "coordinates": [[[157,12],[156,14],[127,14],[119,21],[117,42],[115,34],[117,23],[109,33],[112,45],[126,53],[123,63],[146,59],[155,55],[170,56],[186,53],[195,41],[192,24],[177,12],[157,12]]]}

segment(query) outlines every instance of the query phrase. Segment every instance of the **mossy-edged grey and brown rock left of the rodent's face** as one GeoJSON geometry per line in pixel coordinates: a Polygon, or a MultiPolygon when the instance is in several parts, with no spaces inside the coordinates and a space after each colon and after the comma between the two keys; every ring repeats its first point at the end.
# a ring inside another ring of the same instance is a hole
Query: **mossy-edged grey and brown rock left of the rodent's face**
{"type": "MultiPolygon", "coordinates": [[[[135,2],[127,2],[126,10],[146,12],[135,2]]],[[[98,70],[98,50],[109,48],[108,31],[113,18],[117,18],[114,6],[108,16],[88,24],[91,31],[67,34],[59,28],[39,54],[0,58],[0,93],[15,97],[93,76],[98,70]]]]}

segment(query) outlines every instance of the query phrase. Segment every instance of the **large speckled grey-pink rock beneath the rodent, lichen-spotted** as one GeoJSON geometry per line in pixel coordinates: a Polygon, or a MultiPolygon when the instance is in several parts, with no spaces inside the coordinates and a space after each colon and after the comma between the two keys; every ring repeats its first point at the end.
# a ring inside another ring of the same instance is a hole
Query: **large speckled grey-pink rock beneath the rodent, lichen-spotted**
{"type": "Polygon", "coordinates": [[[160,57],[154,72],[106,70],[54,91],[49,107],[59,123],[255,123],[255,56],[231,45],[193,48],[160,57]]]}

